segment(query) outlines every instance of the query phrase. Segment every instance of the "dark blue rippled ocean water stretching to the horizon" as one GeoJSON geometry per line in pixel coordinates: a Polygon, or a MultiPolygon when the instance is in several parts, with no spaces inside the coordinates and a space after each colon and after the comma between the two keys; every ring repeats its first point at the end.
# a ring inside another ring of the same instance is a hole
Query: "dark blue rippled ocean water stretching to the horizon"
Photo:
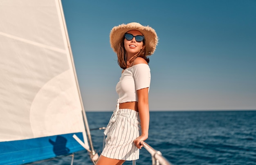
{"type": "MultiPolygon", "coordinates": [[[[112,112],[86,112],[91,129],[108,124],[112,112]]],[[[103,130],[91,130],[94,150],[101,152],[103,130]]],[[[256,111],[150,112],[145,141],[173,165],[256,165],[256,111]]],[[[70,165],[71,156],[38,165],[70,165]]],[[[142,148],[137,165],[151,165],[142,148]]],[[[74,155],[74,165],[92,165],[87,151],[74,155]]],[[[132,165],[127,161],[124,165],[132,165]]]]}

